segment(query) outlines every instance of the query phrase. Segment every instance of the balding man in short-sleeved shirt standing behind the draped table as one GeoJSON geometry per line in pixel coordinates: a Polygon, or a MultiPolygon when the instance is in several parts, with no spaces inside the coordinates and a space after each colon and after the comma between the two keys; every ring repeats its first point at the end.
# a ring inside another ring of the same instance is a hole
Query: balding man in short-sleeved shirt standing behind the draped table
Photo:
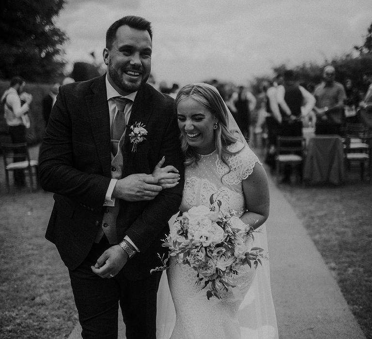
{"type": "Polygon", "coordinates": [[[346,94],[341,83],[335,81],[336,70],[325,66],[323,82],[314,91],[317,115],[315,134],[340,134],[344,123],[343,102],[346,94]]]}

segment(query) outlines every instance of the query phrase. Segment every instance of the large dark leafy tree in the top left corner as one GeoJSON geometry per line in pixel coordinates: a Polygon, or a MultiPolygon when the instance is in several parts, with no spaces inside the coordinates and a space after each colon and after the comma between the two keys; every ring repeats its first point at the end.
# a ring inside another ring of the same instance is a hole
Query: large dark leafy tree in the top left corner
{"type": "Polygon", "coordinates": [[[62,47],[68,40],[54,17],[65,0],[2,0],[0,4],[0,77],[19,75],[51,81],[62,74],[62,47]]]}

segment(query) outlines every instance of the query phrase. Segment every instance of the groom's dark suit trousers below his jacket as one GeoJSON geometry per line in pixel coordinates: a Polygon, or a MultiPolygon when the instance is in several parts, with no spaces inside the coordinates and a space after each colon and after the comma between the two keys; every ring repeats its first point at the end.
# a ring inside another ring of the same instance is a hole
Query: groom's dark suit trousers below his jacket
{"type": "Polygon", "coordinates": [[[93,244],[88,257],[77,269],[69,270],[81,336],[84,339],[117,339],[120,303],[126,338],[155,339],[156,294],[162,272],[136,281],[125,278],[123,270],[112,278],[98,277],[91,266],[110,246],[104,236],[99,244],[93,244]]]}

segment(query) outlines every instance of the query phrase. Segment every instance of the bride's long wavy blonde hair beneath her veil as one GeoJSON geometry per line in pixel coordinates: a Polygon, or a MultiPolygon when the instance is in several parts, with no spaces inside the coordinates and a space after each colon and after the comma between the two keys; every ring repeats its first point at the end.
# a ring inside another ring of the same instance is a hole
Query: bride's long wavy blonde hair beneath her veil
{"type": "MultiPolygon", "coordinates": [[[[194,99],[207,108],[218,119],[217,129],[215,130],[216,150],[221,161],[230,168],[226,161],[226,155],[236,154],[237,152],[231,152],[227,147],[236,142],[238,138],[229,130],[229,113],[221,95],[218,93],[217,89],[211,85],[203,83],[186,85],[181,88],[176,96],[174,103],[176,112],[179,103],[186,98],[194,99]]],[[[187,143],[182,133],[180,139],[181,148],[185,154],[185,166],[196,165],[201,158],[200,154],[187,143]]],[[[240,150],[238,152],[240,152],[240,150]]]]}

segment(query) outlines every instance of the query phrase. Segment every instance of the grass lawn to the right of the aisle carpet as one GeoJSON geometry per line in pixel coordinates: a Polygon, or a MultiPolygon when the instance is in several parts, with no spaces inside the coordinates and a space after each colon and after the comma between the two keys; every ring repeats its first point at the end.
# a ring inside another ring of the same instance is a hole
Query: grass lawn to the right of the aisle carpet
{"type": "Polygon", "coordinates": [[[364,334],[372,339],[372,185],[279,185],[338,282],[364,334]]]}

